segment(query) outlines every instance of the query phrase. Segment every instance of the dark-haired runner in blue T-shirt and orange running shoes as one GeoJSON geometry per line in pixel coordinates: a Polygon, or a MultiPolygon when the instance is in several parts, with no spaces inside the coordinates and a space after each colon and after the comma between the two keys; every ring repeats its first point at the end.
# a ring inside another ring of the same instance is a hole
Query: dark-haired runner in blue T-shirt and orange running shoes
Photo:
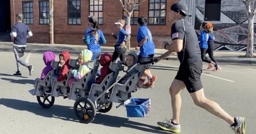
{"type": "MultiPolygon", "coordinates": [[[[152,34],[150,30],[147,28],[147,18],[146,17],[139,17],[138,18],[138,35],[137,35],[137,41],[138,41],[138,47],[136,47],[136,50],[140,50],[139,52],[139,60],[138,62],[145,62],[153,57],[150,57],[150,55],[154,54],[154,41],[152,38],[152,34]]],[[[137,85],[138,88],[141,88],[141,83],[145,82],[145,77],[147,76],[147,79],[149,80],[147,83],[143,84],[142,87],[144,88],[153,88],[154,87],[154,81],[157,79],[157,76],[151,75],[149,70],[150,64],[147,65],[147,68],[139,80],[139,84],[137,85]]]]}

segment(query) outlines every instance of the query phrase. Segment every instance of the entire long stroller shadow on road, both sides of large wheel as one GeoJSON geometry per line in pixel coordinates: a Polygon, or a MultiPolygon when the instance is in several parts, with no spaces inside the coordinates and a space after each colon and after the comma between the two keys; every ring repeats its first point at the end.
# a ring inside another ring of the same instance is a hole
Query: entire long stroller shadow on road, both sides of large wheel
{"type": "MultiPolygon", "coordinates": [[[[36,97],[35,97],[36,99],[36,97]]],[[[18,99],[0,98],[0,105],[4,105],[8,108],[16,109],[19,111],[28,111],[34,113],[35,115],[48,117],[48,118],[58,118],[65,121],[79,122],[74,119],[75,115],[73,112],[73,107],[71,106],[61,106],[53,105],[49,109],[42,108],[38,103],[22,101],[18,99]]],[[[98,113],[95,120],[92,122],[94,124],[102,124],[104,126],[110,127],[127,127],[138,129],[141,131],[156,133],[156,134],[171,134],[169,132],[161,131],[157,126],[151,126],[148,124],[143,124],[139,122],[130,121],[128,118],[117,117],[111,115],[103,115],[98,113]]]]}

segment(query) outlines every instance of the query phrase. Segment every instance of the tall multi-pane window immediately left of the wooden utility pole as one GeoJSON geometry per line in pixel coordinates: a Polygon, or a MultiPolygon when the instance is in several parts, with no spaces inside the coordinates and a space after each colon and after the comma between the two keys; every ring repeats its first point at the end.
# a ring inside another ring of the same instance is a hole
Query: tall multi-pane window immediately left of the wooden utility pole
{"type": "Polygon", "coordinates": [[[49,1],[39,1],[39,24],[49,24],[49,1]]]}

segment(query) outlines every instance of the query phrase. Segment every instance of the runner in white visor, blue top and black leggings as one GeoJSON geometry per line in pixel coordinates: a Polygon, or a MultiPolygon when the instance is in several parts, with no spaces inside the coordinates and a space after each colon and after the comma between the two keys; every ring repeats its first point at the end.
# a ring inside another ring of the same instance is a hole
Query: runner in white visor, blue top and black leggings
{"type": "Polygon", "coordinates": [[[125,32],[123,29],[123,26],[125,24],[125,21],[123,19],[118,20],[115,22],[117,25],[117,28],[119,29],[118,35],[115,36],[113,33],[111,35],[117,39],[117,43],[115,43],[115,51],[112,55],[112,62],[115,63],[117,58],[119,57],[120,60],[125,63],[125,51],[126,51],[126,46],[125,46],[125,40],[129,40],[130,35],[125,32]]]}

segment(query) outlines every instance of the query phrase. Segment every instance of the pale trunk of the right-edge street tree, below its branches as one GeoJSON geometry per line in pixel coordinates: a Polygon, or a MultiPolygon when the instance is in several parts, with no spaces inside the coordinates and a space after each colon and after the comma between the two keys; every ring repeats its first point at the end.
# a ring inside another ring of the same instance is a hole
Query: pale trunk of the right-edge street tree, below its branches
{"type": "Polygon", "coordinates": [[[249,33],[248,33],[247,50],[246,50],[246,54],[245,54],[245,57],[248,57],[248,58],[253,57],[253,35],[254,35],[253,19],[254,19],[254,15],[250,14],[248,16],[248,32],[249,33]]]}

